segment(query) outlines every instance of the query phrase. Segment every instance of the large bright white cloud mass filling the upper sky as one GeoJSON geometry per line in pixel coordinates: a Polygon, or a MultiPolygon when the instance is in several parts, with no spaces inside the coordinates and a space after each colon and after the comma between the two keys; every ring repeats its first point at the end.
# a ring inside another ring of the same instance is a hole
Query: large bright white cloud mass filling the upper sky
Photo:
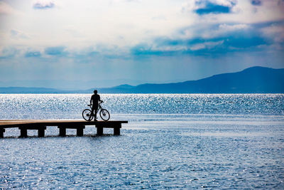
{"type": "MultiPolygon", "coordinates": [[[[251,12],[251,1],[238,1],[236,6],[241,9],[240,12],[211,16],[198,16],[188,11],[181,13],[180,6],[184,3],[183,0],[143,0],[137,1],[138,3],[116,0],[112,1],[114,4],[104,0],[85,0],[84,3],[74,0],[27,0],[25,4],[28,6],[21,2],[18,1],[18,6],[16,3],[13,4],[13,7],[23,12],[23,16],[7,19],[5,28],[2,30],[2,33],[6,33],[5,36],[9,36],[5,38],[7,46],[31,46],[35,49],[66,46],[72,49],[102,44],[104,47],[116,46],[125,50],[140,43],[152,43],[157,37],[215,38],[229,32],[247,30],[253,27],[251,23],[278,21],[280,18],[278,17],[279,8],[275,2],[274,4],[263,3],[264,7],[258,7],[262,11],[255,14],[251,12]],[[60,7],[48,11],[35,11],[32,5],[36,3],[42,7],[50,6],[50,4],[58,7],[60,3],[60,7]],[[265,7],[267,4],[269,6],[265,7]],[[268,9],[269,14],[266,15],[268,9]],[[275,11],[276,14],[273,15],[271,11],[275,11]],[[271,18],[267,19],[269,16],[271,18]],[[263,19],[264,17],[266,19],[263,19]],[[17,38],[21,40],[16,40],[17,38]]],[[[187,1],[183,7],[187,10],[188,7],[196,9],[196,2],[201,1],[187,1]]],[[[212,0],[211,2],[232,6],[236,1],[212,0]]],[[[1,34],[1,36],[4,35],[1,34]]]]}

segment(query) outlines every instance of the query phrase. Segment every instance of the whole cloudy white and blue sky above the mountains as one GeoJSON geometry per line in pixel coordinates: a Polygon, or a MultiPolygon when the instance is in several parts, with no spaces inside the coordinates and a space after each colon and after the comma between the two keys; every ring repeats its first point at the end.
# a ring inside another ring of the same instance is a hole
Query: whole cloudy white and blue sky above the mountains
{"type": "Polygon", "coordinates": [[[6,85],[198,80],[284,68],[283,49],[284,0],[0,0],[6,85]]]}

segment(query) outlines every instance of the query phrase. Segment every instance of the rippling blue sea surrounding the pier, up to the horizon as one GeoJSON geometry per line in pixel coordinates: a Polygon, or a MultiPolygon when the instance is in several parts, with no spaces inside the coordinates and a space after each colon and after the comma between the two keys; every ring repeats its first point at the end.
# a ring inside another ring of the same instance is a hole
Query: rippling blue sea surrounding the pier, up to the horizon
{"type": "MultiPolygon", "coordinates": [[[[83,120],[91,94],[1,94],[0,120],[83,120]]],[[[283,94],[101,94],[121,135],[7,129],[0,189],[284,189],[283,94]]],[[[98,118],[101,120],[100,118],[98,118]]]]}

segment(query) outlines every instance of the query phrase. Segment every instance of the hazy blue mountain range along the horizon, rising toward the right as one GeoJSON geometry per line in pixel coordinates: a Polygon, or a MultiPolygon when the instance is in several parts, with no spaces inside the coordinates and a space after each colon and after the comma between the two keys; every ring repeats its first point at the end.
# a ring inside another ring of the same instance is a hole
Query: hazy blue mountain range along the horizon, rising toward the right
{"type": "MultiPolygon", "coordinates": [[[[213,75],[182,83],[118,85],[97,88],[99,93],[284,93],[284,69],[253,67],[237,73],[213,75]]],[[[54,88],[0,88],[0,93],[92,93],[54,88]]]]}

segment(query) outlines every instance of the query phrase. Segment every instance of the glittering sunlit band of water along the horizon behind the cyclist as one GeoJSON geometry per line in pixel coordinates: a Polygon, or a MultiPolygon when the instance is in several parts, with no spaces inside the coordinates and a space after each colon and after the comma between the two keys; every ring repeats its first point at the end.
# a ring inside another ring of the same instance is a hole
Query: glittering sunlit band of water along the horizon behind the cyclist
{"type": "MultiPolygon", "coordinates": [[[[78,119],[91,95],[0,95],[0,119],[78,119]]],[[[284,115],[284,95],[102,94],[111,114],[284,115]]],[[[199,115],[200,117],[200,115],[199,115]]]]}

